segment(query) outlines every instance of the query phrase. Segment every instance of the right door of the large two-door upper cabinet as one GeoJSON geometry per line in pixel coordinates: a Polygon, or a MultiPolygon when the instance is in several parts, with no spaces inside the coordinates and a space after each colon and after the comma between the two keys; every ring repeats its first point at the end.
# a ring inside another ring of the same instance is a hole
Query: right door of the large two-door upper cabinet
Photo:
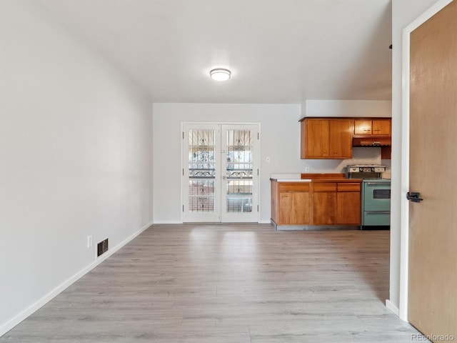
{"type": "Polygon", "coordinates": [[[351,119],[329,121],[330,157],[334,159],[352,158],[351,119]]]}

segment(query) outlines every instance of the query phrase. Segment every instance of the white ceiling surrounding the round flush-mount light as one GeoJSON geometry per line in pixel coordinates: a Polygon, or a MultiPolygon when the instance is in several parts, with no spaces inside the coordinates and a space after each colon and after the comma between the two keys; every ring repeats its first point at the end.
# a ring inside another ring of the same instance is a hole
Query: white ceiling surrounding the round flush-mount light
{"type": "Polygon", "coordinates": [[[154,102],[391,99],[391,0],[42,1],[154,102]]]}

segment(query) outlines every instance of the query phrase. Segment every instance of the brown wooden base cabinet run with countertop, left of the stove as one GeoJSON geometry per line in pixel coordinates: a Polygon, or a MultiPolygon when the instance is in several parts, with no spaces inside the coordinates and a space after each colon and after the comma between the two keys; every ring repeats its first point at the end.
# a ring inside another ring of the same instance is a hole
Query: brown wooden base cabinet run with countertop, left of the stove
{"type": "Polygon", "coordinates": [[[343,173],[271,176],[271,224],[278,230],[361,225],[361,179],[343,173]]]}

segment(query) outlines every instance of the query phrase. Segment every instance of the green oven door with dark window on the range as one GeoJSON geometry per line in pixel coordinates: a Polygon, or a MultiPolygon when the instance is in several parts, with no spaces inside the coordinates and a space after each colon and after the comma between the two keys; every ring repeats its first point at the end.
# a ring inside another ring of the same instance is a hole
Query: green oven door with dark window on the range
{"type": "Polygon", "coordinates": [[[390,211],[391,183],[363,182],[363,211],[390,211]]]}

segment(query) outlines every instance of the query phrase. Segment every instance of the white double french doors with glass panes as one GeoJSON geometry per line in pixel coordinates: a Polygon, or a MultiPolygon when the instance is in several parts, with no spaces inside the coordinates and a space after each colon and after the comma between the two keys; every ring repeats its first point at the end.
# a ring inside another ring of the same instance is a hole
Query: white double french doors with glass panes
{"type": "Polygon", "coordinates": [[[182,124],[183,222],[258,222],[259,125],[182,124]]]}

